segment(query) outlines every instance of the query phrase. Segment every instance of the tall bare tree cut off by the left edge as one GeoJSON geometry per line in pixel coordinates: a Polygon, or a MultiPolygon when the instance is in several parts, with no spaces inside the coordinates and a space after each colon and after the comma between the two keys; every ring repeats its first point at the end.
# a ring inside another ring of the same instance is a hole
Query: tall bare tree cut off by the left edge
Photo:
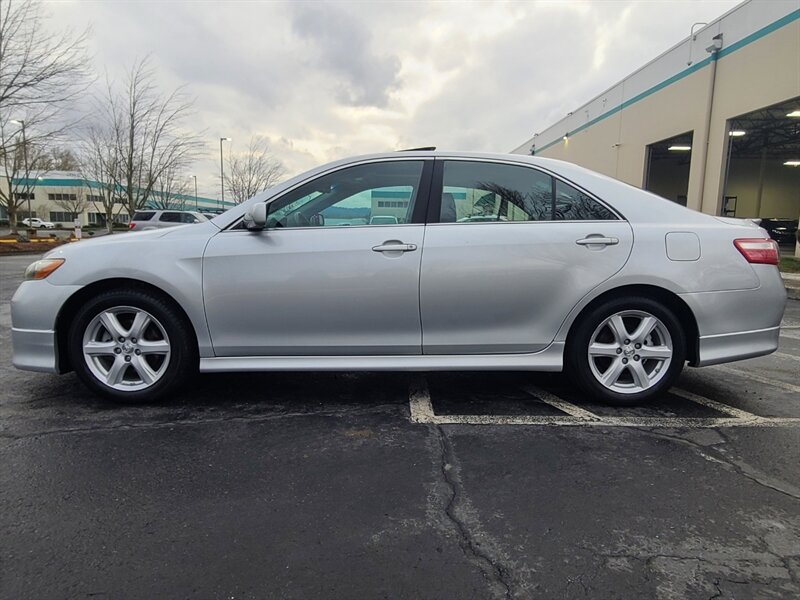
{"type": "Polygon", "coordinates": [[[0,206],[16,232],[29,202],[33,148],[67,127],[63,111],[88,85],[86,34],[51,35],[35,0],[0,0],[0,206]]]}

